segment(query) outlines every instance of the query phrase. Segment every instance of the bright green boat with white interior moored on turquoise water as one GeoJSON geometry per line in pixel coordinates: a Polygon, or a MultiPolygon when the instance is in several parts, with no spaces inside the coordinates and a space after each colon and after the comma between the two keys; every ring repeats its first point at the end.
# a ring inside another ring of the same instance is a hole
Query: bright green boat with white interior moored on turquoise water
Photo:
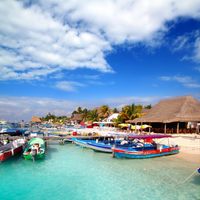
{"type": "Polygon", "coordinates": [[[26,160],[37,160],[45,157],[45,141],[42,138],[32,138],[24,150],[26,160]]]}

